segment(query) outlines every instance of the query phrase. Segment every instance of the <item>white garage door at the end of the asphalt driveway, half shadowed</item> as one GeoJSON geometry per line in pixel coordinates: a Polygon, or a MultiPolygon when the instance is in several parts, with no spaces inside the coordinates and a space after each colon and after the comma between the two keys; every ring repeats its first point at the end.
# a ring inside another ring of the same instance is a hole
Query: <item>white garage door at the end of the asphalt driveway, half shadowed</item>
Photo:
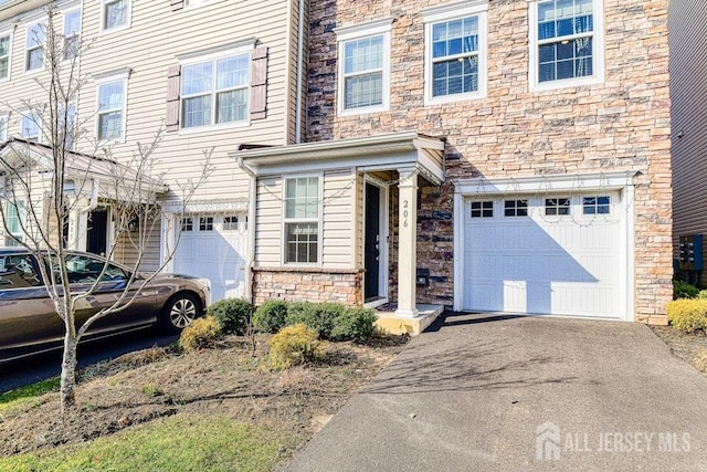
{"type": "Polygon", "coordinates": [[[464,310],[625,318],[620,195],[464,204],[464,310]]]}

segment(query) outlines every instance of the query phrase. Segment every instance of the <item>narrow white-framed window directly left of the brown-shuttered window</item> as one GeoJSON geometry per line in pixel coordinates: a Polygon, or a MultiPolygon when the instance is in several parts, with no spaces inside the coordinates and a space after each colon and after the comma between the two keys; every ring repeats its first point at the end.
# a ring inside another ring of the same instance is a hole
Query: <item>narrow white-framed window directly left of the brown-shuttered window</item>
{"type": "Polygon", "coordinates": [[[127,78],[106,80],[98,84],[96,136],[99,140],[125,139],[127,78]]]}

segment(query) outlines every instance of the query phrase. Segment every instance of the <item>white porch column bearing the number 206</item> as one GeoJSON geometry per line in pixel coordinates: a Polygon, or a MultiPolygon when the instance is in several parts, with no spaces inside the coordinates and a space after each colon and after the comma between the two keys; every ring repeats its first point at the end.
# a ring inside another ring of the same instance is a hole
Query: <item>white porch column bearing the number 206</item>
{"type": "Polygon", "coordinates": [[[395,316],[411,318],[415,307],[418,268],[418,174],[399,169],[398,185],[398,310],[395,316]]]}

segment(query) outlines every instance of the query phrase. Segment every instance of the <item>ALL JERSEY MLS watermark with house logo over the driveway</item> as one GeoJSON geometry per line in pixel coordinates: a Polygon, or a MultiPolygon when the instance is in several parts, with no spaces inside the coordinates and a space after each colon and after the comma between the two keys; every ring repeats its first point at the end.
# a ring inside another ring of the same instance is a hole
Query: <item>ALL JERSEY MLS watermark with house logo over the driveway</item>
{"type": "Polygon", "coordinates": [[[685,453],[690,451],[689,432],[672,431],[562,431],[546,421],[535,429],[536,459],[557,461],[576,453],[685,453]]]}

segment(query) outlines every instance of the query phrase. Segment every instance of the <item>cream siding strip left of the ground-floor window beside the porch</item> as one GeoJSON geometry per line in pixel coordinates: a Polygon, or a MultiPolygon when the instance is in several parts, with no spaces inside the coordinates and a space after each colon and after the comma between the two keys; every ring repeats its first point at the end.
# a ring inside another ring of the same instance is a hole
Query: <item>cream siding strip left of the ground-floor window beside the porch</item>
{"type": "Polygon", "coordinates": [[[255,217],[255,264],[279,266],[282,254],[283,201],[282,179],[266,178],[257,182],[255,217]]]}

